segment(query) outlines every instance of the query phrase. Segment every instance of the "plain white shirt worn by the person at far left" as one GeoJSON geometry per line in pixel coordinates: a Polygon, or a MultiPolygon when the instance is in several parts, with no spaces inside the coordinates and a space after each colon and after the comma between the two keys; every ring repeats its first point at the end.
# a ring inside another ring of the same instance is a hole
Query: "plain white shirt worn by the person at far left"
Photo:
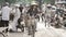
{"type": "Polygon", "coordinates": [[[10,20],[10,11],[11,11],[11,9],[8,5],[2,8],[1,12],[2,12],[2,20],[3,21],[10,20]]]}

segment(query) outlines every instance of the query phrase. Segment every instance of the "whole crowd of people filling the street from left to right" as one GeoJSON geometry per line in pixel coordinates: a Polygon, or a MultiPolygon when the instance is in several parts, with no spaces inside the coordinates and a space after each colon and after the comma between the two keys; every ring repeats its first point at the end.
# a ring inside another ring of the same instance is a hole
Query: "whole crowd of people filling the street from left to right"
{"type": "MultiPolygon", "coordinates": [[[[1,9],[2,24],[0,26],[9,26],[9,32],[18,32],[18,28],[24,32],[25,28],[29,30],[29,35],[32,34],[32,29],[36,32],[36,23],[40,22],[40,17],[42,17],[42,22],[45,22],[45,26],[66,26],[66,9],[64,8],[45,3],[40,9],[35,1],[26,5],[9,7],[7,2],[1,9]]],[[[8,28],[6,30],[8,32],[8,28]]]]}

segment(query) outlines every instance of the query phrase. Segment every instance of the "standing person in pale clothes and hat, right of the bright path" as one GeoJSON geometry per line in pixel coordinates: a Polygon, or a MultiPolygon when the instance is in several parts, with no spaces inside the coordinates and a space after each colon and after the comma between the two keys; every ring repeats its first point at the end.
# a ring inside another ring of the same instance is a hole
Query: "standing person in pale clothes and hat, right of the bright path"
{"type": "Polygon", "coordinates": [[[46,11],[45,11],[45,26],[46,26],[46,23],[47,23],[48,27],[50,27],[50,23],[51,23],[51,11],[52,11],[51,8],[52,8],[52,5],[47,4],[46,11]]]}

